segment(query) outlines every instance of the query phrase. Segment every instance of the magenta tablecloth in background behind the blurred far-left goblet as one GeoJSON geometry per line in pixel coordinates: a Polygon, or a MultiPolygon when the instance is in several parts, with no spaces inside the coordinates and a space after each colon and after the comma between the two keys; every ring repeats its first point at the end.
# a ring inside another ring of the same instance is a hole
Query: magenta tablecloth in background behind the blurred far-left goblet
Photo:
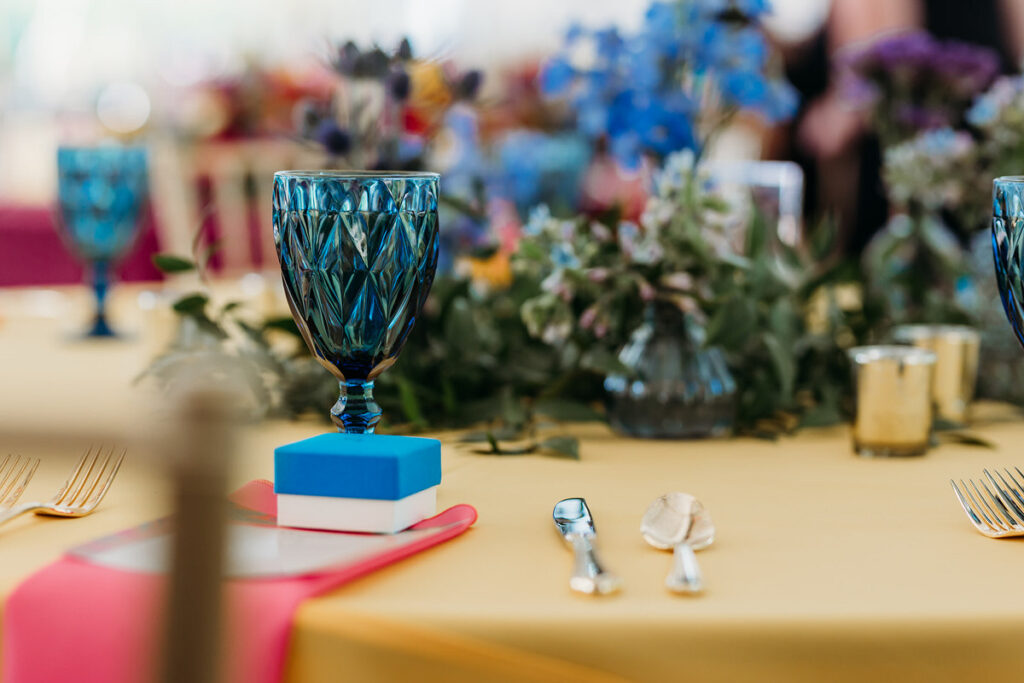
{"type": "MultiPolygon", "coordinates": [[[[158,251],[152,212],[131,252],[118,267],[127,282],[161,280],[151,256],[158,251]]],[[[46,206],[0,204],[0,287],[73,285],[82,266],[57,233],[46,206]]]]}

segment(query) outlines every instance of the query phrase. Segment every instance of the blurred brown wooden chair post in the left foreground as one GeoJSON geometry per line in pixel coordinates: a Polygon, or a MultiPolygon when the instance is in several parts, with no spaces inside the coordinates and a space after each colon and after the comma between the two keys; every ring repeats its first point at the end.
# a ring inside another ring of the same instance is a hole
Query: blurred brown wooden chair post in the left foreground
{"type": "Polygon", "coordinates": [[[230,405],[219,392],[186,393],[178,429],[162,449],[175,510],[164,683],[214,683],[221,671],[225,486],[234,446],[230,405]]]}

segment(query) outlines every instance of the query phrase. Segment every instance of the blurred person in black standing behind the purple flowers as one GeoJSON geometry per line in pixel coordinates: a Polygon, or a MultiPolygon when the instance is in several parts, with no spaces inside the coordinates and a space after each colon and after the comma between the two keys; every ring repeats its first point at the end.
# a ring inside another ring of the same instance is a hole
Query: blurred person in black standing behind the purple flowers
{"type": "Polygon", "coordinates": [[[882,150],[862,113],[839,92],[835,66],[845,50],[921,28],[940,40],[990,47],[1004,73],[1015,73],[1024,45],[1024,0],[834,0],[821,32],[788,50],[786,74],[805,102],[788,157],[804,168],[807,215],[837,214],[851,255],[859,254],[885,224],[889,207],[882,150]]]}

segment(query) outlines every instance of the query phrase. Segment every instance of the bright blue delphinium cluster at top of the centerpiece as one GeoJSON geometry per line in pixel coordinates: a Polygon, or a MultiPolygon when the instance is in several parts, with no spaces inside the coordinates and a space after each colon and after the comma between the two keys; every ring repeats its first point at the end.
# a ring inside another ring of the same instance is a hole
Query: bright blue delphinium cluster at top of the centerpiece
{"type": "Polygon", "coordinates": [[[797,94],[766,74],[768,44],[758,20],[768,10],[766,0],[655,1],[635,35],[574,26],[566,44],[592,41],[591,62],[578,63],[568,50],[554,56],[541,71],[541,89],[567,95],[580,131],[606,138],[626,167],[644,154],[699,148],[695,118],[709,84],[726,106],[785,119],[797,94]]]}

